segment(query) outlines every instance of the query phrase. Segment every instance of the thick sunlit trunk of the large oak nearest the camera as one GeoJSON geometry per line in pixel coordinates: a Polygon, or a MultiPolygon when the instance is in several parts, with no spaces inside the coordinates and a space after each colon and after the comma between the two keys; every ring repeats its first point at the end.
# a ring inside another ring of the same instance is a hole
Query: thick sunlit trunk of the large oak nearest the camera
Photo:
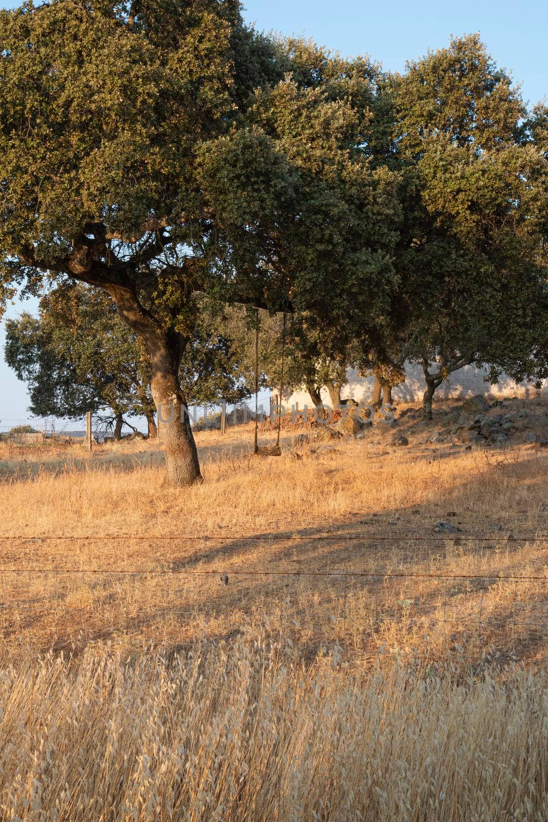
{"type": "Polygon", "coordinates": [[[174,487],[201,482],[200,463],[191,421],[184,409],[187,399],[179,384],[178,363],[167,342],[150,356],[150,389],[158,409],[158,433],[165,450],[168,478],[174,487]]]}

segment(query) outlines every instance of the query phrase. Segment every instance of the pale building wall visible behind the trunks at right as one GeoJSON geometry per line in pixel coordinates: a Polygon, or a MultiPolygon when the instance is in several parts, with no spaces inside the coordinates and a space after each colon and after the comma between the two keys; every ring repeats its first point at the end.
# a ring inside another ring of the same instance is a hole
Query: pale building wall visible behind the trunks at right
{"type": "MultiPolygon", "coordinates": [[[[406,381],[400,386],[395,386],[392,390],[394,400],[400,402],[420,402],[426,388],[424,374],[419,365],[407,363],[405,367],[406,381]]],[[[531,383],[516,383],[509,377],[502,376],[500,381],[492,386],[486,382],[486,369],[467,366],[460,368],[449,376],[449,380],[442,382],[435,391],[435,400],[440,399],[466,399],[476,394],[489,395],[493,399],[502,397],[536,397],[539,392],[531,383]]],[[[348,382],[341,391],[343,399],[355,399],[357,403],[367,403],[371,400],[375,377],[360,377],[353,368],[348,369],[348,382]]],[[[548,398],[548,381],[545,381],[541,389],[541,395],[548,398]]],[[[329,394],[327,390],[322,390],[322,399],[325,404],[329,404],[329,394]]],[[[305,405],[311,406],[311,398],[306,390],[297,391],[292,394],[289,405],[299,404],[299,408],[305,405]]]]}

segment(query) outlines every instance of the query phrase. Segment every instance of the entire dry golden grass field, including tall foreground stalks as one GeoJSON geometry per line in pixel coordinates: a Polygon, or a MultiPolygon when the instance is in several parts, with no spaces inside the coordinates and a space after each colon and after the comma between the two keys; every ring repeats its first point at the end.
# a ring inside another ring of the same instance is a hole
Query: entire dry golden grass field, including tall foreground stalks
{"type": "Polygon", "coordinates": [[[0,445],[0,820],[546,820],[548,452],[439,424],[0,445]]]}

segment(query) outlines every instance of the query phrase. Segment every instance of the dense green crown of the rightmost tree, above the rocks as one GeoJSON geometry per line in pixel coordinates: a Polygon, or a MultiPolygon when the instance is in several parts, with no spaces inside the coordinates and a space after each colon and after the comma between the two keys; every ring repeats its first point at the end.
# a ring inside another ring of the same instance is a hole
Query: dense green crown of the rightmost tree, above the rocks
{"type": "Polygon", "coordinates": [[[468,363],[546,376],[546,150],[477,35],[394,76],[403,174],[400,354],[439,384],[468,363]]]}

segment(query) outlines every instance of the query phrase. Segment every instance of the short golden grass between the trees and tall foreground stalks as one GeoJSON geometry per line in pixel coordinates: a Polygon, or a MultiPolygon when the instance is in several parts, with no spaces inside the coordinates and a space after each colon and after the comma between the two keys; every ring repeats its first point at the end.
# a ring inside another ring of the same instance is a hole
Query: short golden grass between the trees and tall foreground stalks
{"type": "Polygon", "coordinates": [[[426,658],[463,648],[472,660],[486,651],[542,660],[546,457],[532,446],[426,446],[430,429],[398,430],[412,446],[394,448],[393,432],[377,425],[367,440],[305,449],[298,461],[252,457],[251,427],[226,438],[203,432],[206,482],[184,492],[164,485],[161,455],[143,442],[92,459],[72,449],[35,463],[30,478],[21,460],[9,463],[0,486],[10,536],[4,649],[179,647],[251,631],[287,635],[310,656],[338,642],[368,659],[385,648],[426,658]],[[435,522],[448,518],[462,529],[458,541],[432,541],[435,522]]]}

